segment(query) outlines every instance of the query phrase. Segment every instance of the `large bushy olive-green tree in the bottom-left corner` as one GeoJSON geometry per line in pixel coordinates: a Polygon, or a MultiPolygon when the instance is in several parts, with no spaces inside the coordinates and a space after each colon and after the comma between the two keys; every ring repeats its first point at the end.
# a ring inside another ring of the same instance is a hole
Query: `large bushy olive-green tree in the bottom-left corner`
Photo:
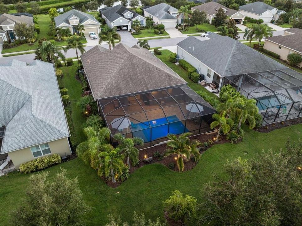
{"type": "Polygon", "coordinates": [[[87,213],[91,210],[83,200],[78,179],[66,177],[61,168],[54,177],[49,171],[29,176],[24,201],[9,217],[14,226],[25,225],[86,225],[87,213]]]}

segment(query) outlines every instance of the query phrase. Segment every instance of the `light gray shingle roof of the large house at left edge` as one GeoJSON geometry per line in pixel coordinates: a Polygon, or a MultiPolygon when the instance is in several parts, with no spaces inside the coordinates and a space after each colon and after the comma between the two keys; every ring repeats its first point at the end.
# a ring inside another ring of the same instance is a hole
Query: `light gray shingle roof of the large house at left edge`
{"type": "Polygon", "coordinates": [[[0,125],[6,126],[1,153],[69,136],[52,64],[0,65],[0,96],[0,125]]]}

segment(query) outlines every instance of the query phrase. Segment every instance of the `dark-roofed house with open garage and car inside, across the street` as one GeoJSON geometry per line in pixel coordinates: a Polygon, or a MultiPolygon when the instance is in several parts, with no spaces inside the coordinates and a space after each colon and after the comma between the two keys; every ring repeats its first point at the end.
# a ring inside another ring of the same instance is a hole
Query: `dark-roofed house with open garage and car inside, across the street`
{"type": "Polygon", "coordinates": [[[99,11],[110,28],[127,26],[128,31],[130,31],[133,20],[139,20],[142,27],[146,26],[145,17],[122,5],[101,8],[99,11]]]}

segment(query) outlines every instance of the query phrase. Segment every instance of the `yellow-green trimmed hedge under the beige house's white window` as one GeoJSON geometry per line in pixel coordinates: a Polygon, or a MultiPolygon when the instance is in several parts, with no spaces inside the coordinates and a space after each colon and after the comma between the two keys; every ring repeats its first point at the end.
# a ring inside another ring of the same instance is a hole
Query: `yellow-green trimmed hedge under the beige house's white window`
{"type": "Polygon", "coordinates": [[[43,170],[53,164],[61,163],[61,157],[58,154],[49,155],[46,157],[31,160],[26,163],[22,163],[19,167],[21,173],[30,173],[38,170],[43,170]]]}

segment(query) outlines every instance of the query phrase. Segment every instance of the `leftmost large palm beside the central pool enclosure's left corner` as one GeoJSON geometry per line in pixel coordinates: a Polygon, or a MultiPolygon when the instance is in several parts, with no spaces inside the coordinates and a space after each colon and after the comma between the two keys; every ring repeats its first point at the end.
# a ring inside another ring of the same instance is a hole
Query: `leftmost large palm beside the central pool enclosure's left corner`
{"type": "Polygon", "coordinates": [[[93,127],[89,126],[84,128],[84,134],[87,140],[77,146],[77,156],[82,158],[84,163],[90,164],[93,169],[97,169],[100,164],[98,154],[105,146],[106,140],[110,136],[110,130],[108,127],[103,127],[96,132],[93,127]]]}

